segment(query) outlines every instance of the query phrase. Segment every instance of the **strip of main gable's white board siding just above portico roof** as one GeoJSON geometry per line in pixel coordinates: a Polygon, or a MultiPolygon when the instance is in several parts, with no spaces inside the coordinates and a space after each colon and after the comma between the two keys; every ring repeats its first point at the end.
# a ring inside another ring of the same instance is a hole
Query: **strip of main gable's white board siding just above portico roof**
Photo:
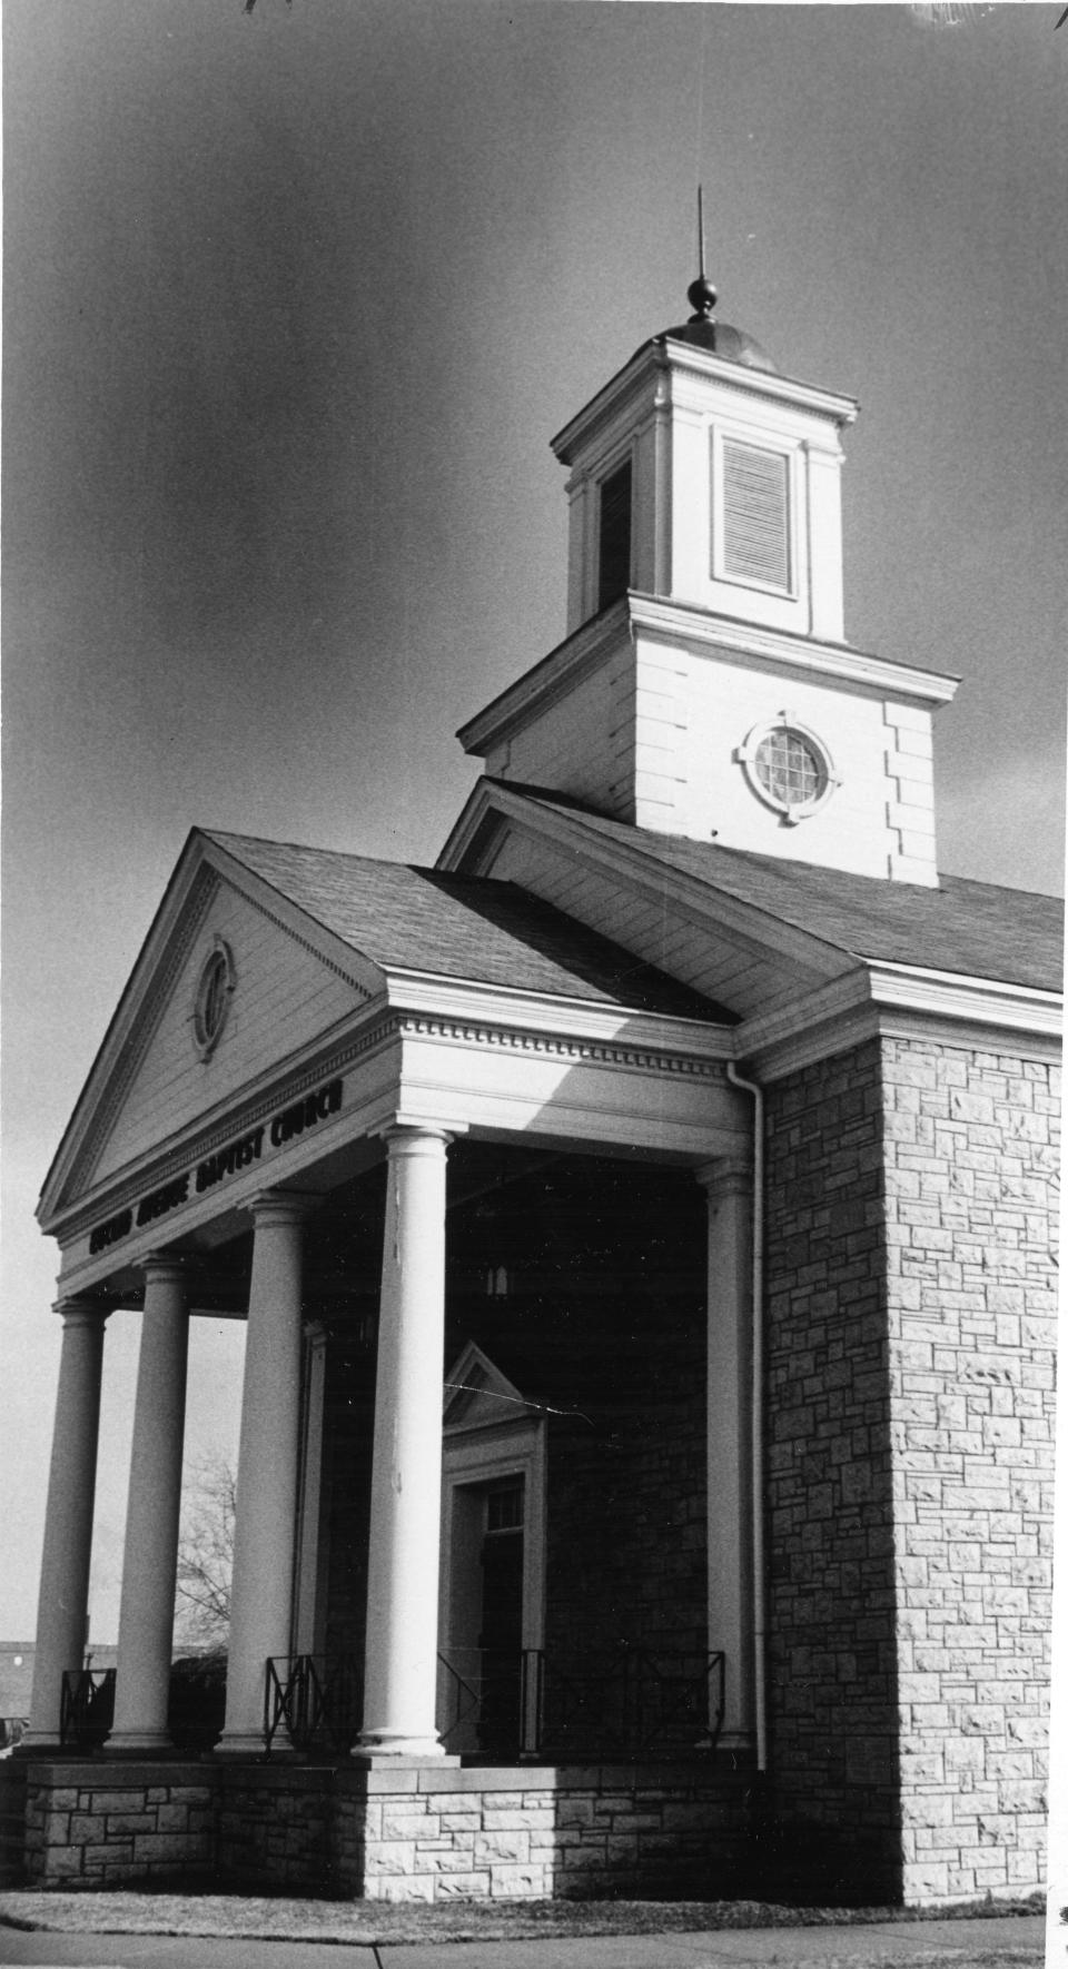
{"type": "Polygon", "coordinates": [[[548,841],[510,833],[493,862],[493,874],[502,882],[520,882],[579,923],[634,951],[634,957],[745,1018],[796,996],[794,965],[786,967],[772,953],[755,953],[717,927],[705,929],[680,918],[670,904],[634,896],[548,841]]]}

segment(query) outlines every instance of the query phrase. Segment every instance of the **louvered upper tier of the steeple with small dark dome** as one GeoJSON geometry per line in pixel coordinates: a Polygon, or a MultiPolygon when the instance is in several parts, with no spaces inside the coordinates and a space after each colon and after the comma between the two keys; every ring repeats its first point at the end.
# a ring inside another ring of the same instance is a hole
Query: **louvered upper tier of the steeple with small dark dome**
{"type": "Polygon", "coordinates": [[[567,628],[625,589],[843,636],[847,396],[780,376],[743,329],[694,313],[642,343],[554,439],[571,467],[567,628]]]}

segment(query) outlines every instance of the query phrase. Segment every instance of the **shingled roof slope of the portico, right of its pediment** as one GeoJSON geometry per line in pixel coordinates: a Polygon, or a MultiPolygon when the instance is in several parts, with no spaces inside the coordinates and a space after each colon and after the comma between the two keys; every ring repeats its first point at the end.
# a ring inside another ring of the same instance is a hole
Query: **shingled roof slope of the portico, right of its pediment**
{"type": "Polygon", "coordinates": [[[205,839],[384,971],[737,1024],[733,1012],[512,882],[248,835],[205,839]]]}

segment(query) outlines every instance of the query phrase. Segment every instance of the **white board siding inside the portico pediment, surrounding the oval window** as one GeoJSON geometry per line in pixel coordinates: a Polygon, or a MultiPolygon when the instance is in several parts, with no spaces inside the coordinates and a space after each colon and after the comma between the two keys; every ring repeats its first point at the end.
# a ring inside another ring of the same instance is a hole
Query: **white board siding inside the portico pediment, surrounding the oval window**
{"type": "Polygon", "coordinates": [[[106,1134],[95,1179],[112,1175],[197,1114],[236,1095],[276,1061],[345,1018],[363,992],[236,890],[221,886],[199,925],[144,1057],[106,1134]],[[213,937],[234,959],[236,986],[209,1059],[193,1042],[193,998],[213,937]]]}

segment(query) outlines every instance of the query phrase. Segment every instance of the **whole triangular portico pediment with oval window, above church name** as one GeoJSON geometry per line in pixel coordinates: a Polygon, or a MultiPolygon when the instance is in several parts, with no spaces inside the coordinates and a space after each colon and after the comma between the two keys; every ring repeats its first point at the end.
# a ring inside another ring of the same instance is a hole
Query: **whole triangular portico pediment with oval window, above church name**
{"type": "Polygon", "coordinates": [[[193,835],[49,1170],[41,1221],[236,1103],[382,990],[376,965],[193,835]]]}

